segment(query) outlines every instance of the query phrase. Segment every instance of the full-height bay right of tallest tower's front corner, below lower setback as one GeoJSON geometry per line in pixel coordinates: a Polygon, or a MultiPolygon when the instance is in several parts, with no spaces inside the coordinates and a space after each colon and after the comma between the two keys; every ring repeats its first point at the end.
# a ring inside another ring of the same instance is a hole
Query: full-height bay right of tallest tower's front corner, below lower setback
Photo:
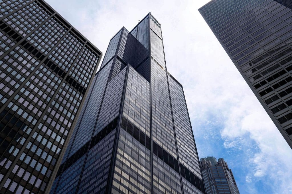
{"type": "Polygon", "coordinates": [[[112,193],[151,193],[150,85],[129,68],[112,193]]]}

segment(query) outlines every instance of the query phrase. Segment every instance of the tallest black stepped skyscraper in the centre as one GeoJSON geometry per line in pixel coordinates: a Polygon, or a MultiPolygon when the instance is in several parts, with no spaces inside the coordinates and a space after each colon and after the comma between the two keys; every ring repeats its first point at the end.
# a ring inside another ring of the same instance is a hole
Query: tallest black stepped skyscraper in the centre
{"type": "Polygon", "coordinates": [[[110,40],[50,193],[205,193],[162,40],[151,13],[110,40]]]}

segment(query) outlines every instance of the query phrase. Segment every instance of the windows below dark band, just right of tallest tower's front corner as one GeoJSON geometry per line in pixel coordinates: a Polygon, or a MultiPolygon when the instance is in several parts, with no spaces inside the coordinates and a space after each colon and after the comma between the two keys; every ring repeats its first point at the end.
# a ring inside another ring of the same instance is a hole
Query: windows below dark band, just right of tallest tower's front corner
{"type": "Polygon", "coordinates": [[[151,193],[150,150],[120,130],[112,193],[151,193]]]}

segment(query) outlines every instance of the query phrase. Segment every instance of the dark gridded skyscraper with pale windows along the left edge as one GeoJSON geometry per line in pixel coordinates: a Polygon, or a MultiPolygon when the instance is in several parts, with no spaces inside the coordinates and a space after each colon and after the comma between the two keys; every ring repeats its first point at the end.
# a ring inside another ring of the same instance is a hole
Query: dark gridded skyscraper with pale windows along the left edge
{"type": "Polygon", "coordinates": [[[42,0],[0,8],[0,193],[48,193],[101,52],[42,0]]]}

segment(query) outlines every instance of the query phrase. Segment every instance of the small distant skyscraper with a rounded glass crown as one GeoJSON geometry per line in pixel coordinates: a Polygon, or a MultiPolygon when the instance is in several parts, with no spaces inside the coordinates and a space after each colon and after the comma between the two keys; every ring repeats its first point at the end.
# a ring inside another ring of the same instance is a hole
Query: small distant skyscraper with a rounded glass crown
{"type": "Polygon", "coordinates": [[[231,169],[223,158],[213,156],[200,159],[202,175],[207,194],[231,193],[239,194],[231,169]]]}

